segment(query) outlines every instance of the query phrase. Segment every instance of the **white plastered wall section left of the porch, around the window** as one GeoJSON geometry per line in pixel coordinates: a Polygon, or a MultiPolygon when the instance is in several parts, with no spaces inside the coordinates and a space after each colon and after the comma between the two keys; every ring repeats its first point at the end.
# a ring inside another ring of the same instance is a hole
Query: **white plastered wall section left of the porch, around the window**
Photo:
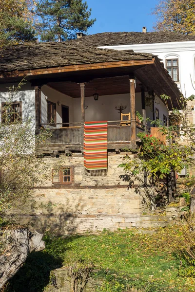
{"type": "MultiPolygon", "coordinates": [[[[9,93],[8,88],[18,84],[2,84],[0,85],[0,105],[2,102],[21,101],[22,107],[22,121],[29,118],[32,120],[32,128],[35,128],[35,90],[32,89],[30,84],[21,86],[17,92],[9,93]]],[[[1,115],[1,111],[0,111],[1,115]]],[[[1,117],[0,117],[1,118],[1,117]]]]}

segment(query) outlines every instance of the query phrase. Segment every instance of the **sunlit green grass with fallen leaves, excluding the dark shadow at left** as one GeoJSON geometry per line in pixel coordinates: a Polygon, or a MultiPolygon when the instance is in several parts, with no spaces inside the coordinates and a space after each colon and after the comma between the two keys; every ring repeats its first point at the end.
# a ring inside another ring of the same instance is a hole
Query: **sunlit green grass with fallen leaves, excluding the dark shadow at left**
{"type": "Polygon", "coordinates": [[[153,235],[118,230],[45,240],[46,251],[58,254],[65,266],[78,259],[93,262],[94,277],[104,281],[102,291],[120,292],[126,285],[144,292],[195,291],[193,279],[179,276],[182,237],[176,227],[159,229],[153,235]]]}

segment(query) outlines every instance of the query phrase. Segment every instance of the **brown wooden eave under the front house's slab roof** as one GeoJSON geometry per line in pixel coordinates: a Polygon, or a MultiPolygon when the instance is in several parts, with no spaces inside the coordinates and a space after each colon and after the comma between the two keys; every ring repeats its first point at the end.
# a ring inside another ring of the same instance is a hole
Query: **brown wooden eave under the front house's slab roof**
{"type": "MultiPolygon", "coordinates": [[[[160,96],[171,96],[174,107],[178,105],[180,91],[159,59],[124,60],[91,64],[67,65],[52,68],[35,68],[0,73],[0,83],[17,82],[26,77],[35,85],[57,81],[87,82],[95,78],[106,78],[135,74],[137,79],[148,89],[160,96]]],[[[169,102],[170,110],[172,109],[169,102]]]]}

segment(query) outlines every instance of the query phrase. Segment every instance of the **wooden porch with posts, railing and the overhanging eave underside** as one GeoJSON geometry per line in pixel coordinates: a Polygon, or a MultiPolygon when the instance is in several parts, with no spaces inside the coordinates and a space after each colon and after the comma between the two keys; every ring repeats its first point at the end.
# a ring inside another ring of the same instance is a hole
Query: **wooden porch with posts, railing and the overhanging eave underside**
{"type": "MultiPolygon", "coordinates": [[[[32,85],[35,86],[35,101],[36,101],[36,129],[43,126],[47,128],[47,124],[41,122],[41,86],[46,84],[53,90],[61,92],[73,99],[73,104],[76,104],[75,100],[79,98],[79,111],[77,111],[76,117],[70,123],[54,123],[55,128],[49,127],[52,131],[52,136],[48,139],[47,145],[51,151],[64,151],[75,150],[82,151],[84,143],[84,123],[85,121],[94,121],[93,114],[89,117],[86,112],[86,100],[87,98],[93,99],[93,93],[98,88],[100,96],[108,96],[115,94],[127,94],[129,103],[129,120],[123,121],[108,121],[108,149],[124,149],[124,148],[137,148],[137,141],[139,141],[137,134],[139,132],[146,132],[148,130],[146,126],[146,92],[148,98],[150,98],[152,104],[152,115],[155,120],[155,93],[160,96],[162,93],[178,96],[179,91],[176,85],[171,80],[170,76],[164,72],[160,62],[156,59],[156,65],[132,65],[125,63],[125,67],[120,67],[117,70],[113,68],[99,68],[98,71],[94,69],[86,69],[82,74],[72,72],[70,75],[64,75],[60,73],[58,76],[50,79],[32,80],[32,85]],[[157,66],[157,67],[156,67],[157,66]],[[157,68],[157,69],[156,69],[157,68]],[[91,75],[89,76],[89,72],[91,75]],[[77,73],[77,75],[75,75],[77,73]],[[38,85],[40,84],[40,85],[38,85]],[[149,93],[150,91],[150,93],[149,93]],[[142,115],[142,123],[137,121],[136,116],[136,93],[140,93],[140,108],[139,113],[142,115]],[[77,119],[79,118],[79,119],[77,119]]],[[[51,73],[53,77],[53,73],[51,73]]],[[[58,95],[57,95],[58,96],[58,95]]],[[[56,103],[58,102],[56,97],[56,103]]],[[[105,97],[106,98],[106,97],[105,97]]],[[[112,102],[112,101],[111,101],[112,102]]],[[[96,101],[94,101],[96,103],[96,101]]],[[[96,104],[93,105],[95,113],[98,112],[96,104]]],[[[112,108],[115,108],[116,104],[112,104],[112,108]]],[[[88,108],[88,110],[90,107],[88,108]]],[[[92,106],[91,106],[92,109],[92,106]]],[[[96,117],[95,121],[107,120],[108,111],[102,119],[96,117]]],[[[112,118],[112,117],[111,117],[112,118]]],[[[48,148],[47,148],[48,149],[48,148]]],[[[42,150],[46,151],[46,148],[42,150]]],[[[45,152],[46,153],[46,152],[45,152]]]]}

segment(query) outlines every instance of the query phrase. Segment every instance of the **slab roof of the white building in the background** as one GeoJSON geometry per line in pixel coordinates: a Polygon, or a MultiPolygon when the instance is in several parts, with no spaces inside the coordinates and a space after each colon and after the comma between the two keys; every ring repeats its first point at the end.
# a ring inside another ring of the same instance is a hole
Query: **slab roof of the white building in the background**
{"type": "Polygon", "coordinates": [[[112,45],[135,45],[135,44],[152,44],[177,41],[195,41],[195,36],[185,36],[173,32],[118,32],[118,33],[101,33],[91,36],[84,36],[69,42],[85,44],[89,46],[112,46],[112,45]]]}

